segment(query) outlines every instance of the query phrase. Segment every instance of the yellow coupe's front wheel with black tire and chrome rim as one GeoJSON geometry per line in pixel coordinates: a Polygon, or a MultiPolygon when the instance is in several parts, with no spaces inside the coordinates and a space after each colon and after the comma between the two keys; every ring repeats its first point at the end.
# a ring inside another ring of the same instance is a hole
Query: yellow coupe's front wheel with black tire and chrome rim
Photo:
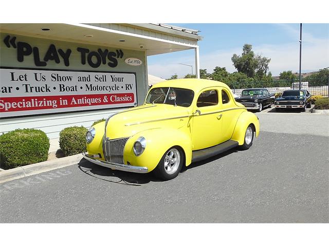
{"type": "Polygon", "coordinates": [[[162,180],[171,180],[177,177],[184,163],[185,156],[179,147],[168,149],[154,169],[156,177],[162,180]]]}

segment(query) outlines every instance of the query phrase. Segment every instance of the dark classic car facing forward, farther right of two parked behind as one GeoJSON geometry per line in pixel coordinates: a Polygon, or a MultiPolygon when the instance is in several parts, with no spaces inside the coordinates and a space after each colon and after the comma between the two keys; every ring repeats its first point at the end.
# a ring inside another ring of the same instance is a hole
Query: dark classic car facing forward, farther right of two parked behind
{"type": "Polygon", "coordinates": [[[275,99],[276,111],[284,109],[300,109],[302,112],[306,111],[306,108],[310,108],[310,102],[307,99],[310,98],[310,93],[307,90],[286,90],[283,91],[281,97],[275,99]]]}

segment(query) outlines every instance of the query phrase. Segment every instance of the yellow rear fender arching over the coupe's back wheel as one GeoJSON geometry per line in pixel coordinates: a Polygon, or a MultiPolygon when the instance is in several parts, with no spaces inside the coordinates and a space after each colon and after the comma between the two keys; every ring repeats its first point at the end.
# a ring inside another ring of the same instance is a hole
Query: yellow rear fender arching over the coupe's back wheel
{"type": "Polygon", "coordinates": [[[256,137],[258,137],[260,128],[259,120],[257,116],[252,112],[245,111],[242,112],[239,118],[237,119],[231,139],[238,142],[239,145],[243,145],[245,140],[246,129],[250,125],[250,123],[252,123],[255,127],[256,137]]]}

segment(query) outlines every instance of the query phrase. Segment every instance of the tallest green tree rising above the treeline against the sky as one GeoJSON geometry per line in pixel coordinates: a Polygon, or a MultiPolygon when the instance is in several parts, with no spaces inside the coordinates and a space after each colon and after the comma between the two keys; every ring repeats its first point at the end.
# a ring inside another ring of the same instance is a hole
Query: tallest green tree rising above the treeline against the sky
{"type": "Polygon", "coordinates": [[[244,73],[248,77],[257,75],[259,78],[266,76],[268,64],[271,61],[270,58],[255,56],[252,45],[249,44],[243,46],[241,56],[233,54],[231,60],[237,72],[244,73]]]}

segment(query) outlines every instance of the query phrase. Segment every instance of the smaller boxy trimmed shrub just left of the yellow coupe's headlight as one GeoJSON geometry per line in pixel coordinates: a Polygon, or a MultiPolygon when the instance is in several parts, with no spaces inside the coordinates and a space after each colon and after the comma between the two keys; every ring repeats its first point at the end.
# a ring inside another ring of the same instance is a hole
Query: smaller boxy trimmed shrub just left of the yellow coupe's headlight
{"type": "Polygon", "coordinates": [[[68,127],[60,132],[60,148],[65,156],[86,152],[86,132],[83,126],[68,127]]]}

